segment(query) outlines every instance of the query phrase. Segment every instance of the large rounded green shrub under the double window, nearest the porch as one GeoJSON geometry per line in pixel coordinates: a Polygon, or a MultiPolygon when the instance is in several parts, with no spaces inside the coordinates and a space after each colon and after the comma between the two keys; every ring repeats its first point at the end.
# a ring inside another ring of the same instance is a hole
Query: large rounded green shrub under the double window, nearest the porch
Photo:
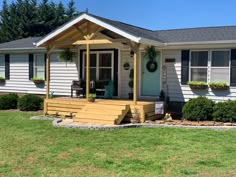
{"type": "Polygon", "coordinates": [[[212,120],[214,102],[206,97],[190,99],[183,107],[183,117],[187,120],[212,120]]]}

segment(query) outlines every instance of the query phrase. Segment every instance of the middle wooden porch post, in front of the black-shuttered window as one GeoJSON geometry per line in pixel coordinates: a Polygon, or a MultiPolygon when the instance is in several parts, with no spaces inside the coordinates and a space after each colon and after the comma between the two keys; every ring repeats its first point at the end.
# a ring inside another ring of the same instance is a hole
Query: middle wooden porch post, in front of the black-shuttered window
{"type": "Polygon", "coordinates": [[[86,99],[89,99],[89,91],[90,91],[90,45],[86,44],[86,99]]]}

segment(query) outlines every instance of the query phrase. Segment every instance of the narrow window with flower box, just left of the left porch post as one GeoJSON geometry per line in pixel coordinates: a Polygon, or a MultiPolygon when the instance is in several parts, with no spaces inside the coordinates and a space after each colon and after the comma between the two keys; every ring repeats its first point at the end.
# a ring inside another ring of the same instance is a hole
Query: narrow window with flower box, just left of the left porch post
{"type": "Polygon", "coordinates": [[[35,54],[34,55],[34,77],[45,79],[44,54],[35,54]]]}

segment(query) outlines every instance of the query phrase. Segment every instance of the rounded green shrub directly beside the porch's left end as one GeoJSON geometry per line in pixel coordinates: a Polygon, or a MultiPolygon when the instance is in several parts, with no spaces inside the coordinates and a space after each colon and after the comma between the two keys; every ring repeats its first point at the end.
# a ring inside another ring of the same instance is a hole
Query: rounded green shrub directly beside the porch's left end
{"type": "Polygon", "coordinates": [[[19,99],[18,107],[21,111],[38,111],[43,99],[37,95],[24,95],[19,99]]]}

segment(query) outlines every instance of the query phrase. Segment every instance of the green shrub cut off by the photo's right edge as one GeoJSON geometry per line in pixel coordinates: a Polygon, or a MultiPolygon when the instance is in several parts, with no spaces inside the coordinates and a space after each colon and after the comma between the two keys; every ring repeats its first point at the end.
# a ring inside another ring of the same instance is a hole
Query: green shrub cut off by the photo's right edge
{"type": "Polygon", "coordinates": [[[216,103],[214,106],[213,120],[220,122],[236,122],[236,101],[216,103]]]}

